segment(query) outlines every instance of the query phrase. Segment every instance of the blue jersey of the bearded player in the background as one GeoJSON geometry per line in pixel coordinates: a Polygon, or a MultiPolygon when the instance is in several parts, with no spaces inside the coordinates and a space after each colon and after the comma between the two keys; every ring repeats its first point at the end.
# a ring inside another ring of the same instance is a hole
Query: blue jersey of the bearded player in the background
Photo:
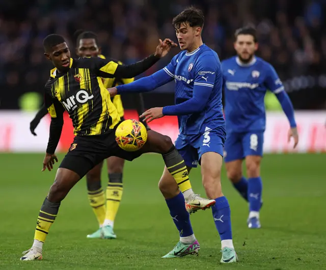
{"type": "Polygon", "coordinates": [[[264,131],[266,91],[284,91],[275,69],[259,57],[242,64],[234,56],[222,62],[222,70],[227,132],[264,131]]]}

